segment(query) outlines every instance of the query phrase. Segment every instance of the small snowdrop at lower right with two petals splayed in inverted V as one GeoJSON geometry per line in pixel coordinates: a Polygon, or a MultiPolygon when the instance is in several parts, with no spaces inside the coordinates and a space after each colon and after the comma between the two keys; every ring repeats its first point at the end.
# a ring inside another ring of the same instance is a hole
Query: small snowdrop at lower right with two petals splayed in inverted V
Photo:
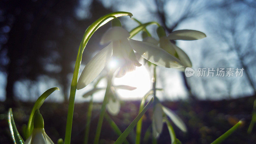
{"type": "Polygon", "coordinates": [[[164,117],[168,116],[172,122],[183,132],[187,132],[186,125],[171,109],[164,107],[160,102],[157,102],[152,117],[152,130],[155,138],[159,137],[163,130],[164,117]]]}

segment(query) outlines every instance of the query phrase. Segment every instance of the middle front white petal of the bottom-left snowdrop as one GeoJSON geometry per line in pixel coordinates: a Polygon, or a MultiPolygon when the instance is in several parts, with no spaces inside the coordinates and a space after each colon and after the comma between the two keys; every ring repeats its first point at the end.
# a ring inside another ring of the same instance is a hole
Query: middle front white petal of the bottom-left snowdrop
{"type": "Polygon", "coordinates": [[[43,129],[34,129],[32,132],[32,140],[31,144],[46,144],[46,140],[44,138],[44,130],[43,129]]]}

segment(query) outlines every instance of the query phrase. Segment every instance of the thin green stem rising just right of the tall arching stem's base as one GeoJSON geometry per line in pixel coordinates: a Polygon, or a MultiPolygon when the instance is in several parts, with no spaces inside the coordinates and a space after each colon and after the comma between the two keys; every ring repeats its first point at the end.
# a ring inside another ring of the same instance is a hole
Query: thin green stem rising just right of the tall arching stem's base
{"type": "Polygon", "coordinates": [[[86,127],[85,127],[85,135],[84,135],[84,144],[88,143],[89,140],[89,131],[90,131],[90,124],[91,124],[91,117],[92,117],[92,106],[93,106],[93,97],[91,96],[88,111],[87,111],[87,120],[86,120],[86,127]]]}

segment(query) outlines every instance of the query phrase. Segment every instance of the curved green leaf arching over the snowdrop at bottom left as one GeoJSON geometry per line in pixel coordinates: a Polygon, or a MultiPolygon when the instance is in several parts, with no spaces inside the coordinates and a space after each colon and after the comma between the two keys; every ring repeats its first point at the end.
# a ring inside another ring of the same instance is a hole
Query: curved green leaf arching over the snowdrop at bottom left
{"type": "Polygon", "coordinates": [[[28,128],[27,128],[27,139],[33,132],[33,121],[34,121],[34,113],[36,109],[39,109],[42,104],[44,103],[44,100],[54,91],[60,90],[58,87],[50,88],[49,90],[45,91],[35,102],[34,107],[32,108],[32,111],[30,113],[29,119],[28,119],[28,128]]]}

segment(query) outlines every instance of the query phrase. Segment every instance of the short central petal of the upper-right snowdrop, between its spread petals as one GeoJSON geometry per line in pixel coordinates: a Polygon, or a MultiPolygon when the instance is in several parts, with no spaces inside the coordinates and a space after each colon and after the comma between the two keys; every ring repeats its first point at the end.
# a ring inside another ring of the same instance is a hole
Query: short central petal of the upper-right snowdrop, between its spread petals
{"type": "Polygon", "coordinates": [[[174,47],[172,46],[172,43],[166,36],[163,36],[159,39],[159,46],[160,46],[160,48],[164,49],[164,51],[175,56],[176,51],[175,51],[174,47]]]}

